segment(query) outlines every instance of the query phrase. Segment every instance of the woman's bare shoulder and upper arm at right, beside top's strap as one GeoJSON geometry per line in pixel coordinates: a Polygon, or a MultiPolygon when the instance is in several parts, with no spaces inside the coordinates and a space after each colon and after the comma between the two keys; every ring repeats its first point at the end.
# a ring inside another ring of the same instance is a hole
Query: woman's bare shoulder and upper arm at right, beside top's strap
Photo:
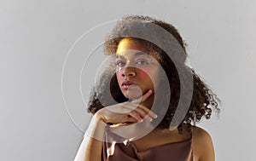
{"type": "Polygon", "coordinates": [[[193,128],[192,147],[195,160],[214,161],[214,147],[212,137],[206,129],[193,128]]]}

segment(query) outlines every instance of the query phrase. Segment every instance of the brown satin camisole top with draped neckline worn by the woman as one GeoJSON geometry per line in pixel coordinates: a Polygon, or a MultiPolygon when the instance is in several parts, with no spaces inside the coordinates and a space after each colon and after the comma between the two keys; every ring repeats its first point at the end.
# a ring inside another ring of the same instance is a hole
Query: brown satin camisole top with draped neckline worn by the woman
{"type": "Polygon", "coordinates": [[[108,130],[102,144],[102,161],[193,161],[192,132],[187,141],[166,143],[138,152],[131,141],[108,130]],[[119,137],[119,138],[118,138],[119,137]],[[113,140],[113,138],[115,138],[113,140]],[[116,139],[118,138],[118,140],[116,139]],[[123,141],[123,142],[122,142],[123,141]],[[116,143],[118,142],[118,143],[116,143]]]}

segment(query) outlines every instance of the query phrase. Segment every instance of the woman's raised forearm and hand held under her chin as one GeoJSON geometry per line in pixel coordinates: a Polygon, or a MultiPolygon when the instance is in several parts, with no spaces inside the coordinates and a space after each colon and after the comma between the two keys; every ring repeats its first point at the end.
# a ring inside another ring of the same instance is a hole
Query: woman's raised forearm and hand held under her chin
{"type": "Polygon", "coordinates": [[[152,90],[131,102],[123,102],[113,106],[107,106],[95,113],[90,121],[90,125],[85,132],[84,139],[79,147],[75,161],[101,161],[102,159],[102,138],[107,123],[122,124],[126,122],[137,123],[143,118],[152,121],[156,114],[148,107],[140,105],[140,101],[145,101],[152,90]],[[152,118],[150,118],[152,117],[152,118]]]}

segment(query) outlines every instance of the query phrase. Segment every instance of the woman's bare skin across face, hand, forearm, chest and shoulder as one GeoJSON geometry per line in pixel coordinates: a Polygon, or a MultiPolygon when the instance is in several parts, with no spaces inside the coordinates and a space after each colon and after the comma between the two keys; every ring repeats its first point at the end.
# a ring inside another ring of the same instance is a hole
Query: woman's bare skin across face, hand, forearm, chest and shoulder
{"type": "MultiPolygon", "coordinates": [[[[93,130],[90,135],[98,135],[100,138],[103,136],[103,128],[100,123],[112,123],[112,124],[125,124],[137,123],[139,121],[151,122],[152,119],[157,118],[154,112],[150,111],[152,103],[154,101],[154,84],[157,87],[157,78],[159,75],[159,68],[154,66],[131,66],[131,63],[136,64],[137,59],[134,59],[134,55],[137,51],[143,51],[147,53],[147,50],[143,46],[133,39],[125,38],[120,41],[117,53],[122,55],[122,59],[125,61],[125,66],[117,66],[116,76],[119,82],[119,88],[126,98],[131,98],[131,102],[123,102],[113,106],[107,106],[96,112],[94,118],[96,122],[92,124],[93,130]],[[128,55],[125,51],[132,51],[131,55],[128,55]],[[149,75],[151,77],[149,77],[149,75]],[[154,81],[151,80],[151,78],[154,81]],[[124,80],[132,81],[137,84],[137,88],[123,89],[122,82],[124,80]]],[[[150,54],[150,53],[149,53],[150,54]]],[[[142,59],[142,57],[140,57],[142,59]]],[[[157,60],[156,58],[154,58],[157,60]]],[[[138,59],[139,60],[139,59],[138,59]]],[[[119,62],[119,59],[116,60],[119,62]]],[[[139,62],[139,64],[141,64],[139,62]]],[[[157,88],[155,88],[157,89],[157,88]]],[[[178,134],[178,130],[169,129],[154,129],[148,135],[142,138],[132,141],[137,147],[138,152],[148,149],[149,147],[160,146],[162,144],[186,141],[190,135],[186,129],[183,129],[183,135],[178,134]]],[[[211,136],[206,130],[199,127],[193,128],[192,148],[195,161],[214,161],[214,149],[211,136]]],[[[77,157],[75,160],[86,161],[100,161],[102,151],[102,141],[98,141],[93,137],[89,138],[89,141],[83,140],[77,157]],[[85,154],[85,155],[83,155],[85,154]],[[86,157],[85,157],[86,156],[86,157]]]]}

